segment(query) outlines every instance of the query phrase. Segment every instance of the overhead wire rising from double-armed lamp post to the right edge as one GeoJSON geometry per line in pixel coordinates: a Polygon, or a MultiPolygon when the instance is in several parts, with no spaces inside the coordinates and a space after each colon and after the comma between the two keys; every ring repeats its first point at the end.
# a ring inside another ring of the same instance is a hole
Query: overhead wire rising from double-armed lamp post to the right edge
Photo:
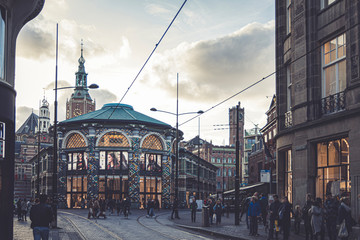
{"type": "MultiPolygon", "coordinates": [[[[359,23],[354,24],[353,26],[351,26],[351,27],[350,27],[350,28],[348,28],[348,29],[345,29],[344,33],[346,33],[346,32],[348,32],[348,31],[350,31],[350,30],[351,30],[352,28],[354,28],[354,27],[359,26],[359,24],[360,24],[360,22],[359,22],[359,23]]],[[[293,61],[290,61],[290,62],[289,62],[289,63],[287,63],[286,65],[285,65],[285,64],[283,64],[283,65],[279,68],[279,70],[278,70],[278,71],[283,70],[286,66],[288,66],[288,65],[290,65],[290,64],[293,64],[293,63],[295,63],[296,61],[298,61],[298,60],[302,59],[303,57],[306,57],[307,55],[309,55],[309,54],[311,54],[311,53],[315,52],[316,50],[318,50],[318,49],[319,49],[319,48],[321,48],[322,46],[323,46],[323,44],[321,44],[321,45],[319,45],[319,46],[317,46],[317,47],[315,47],[315,48],[311,49],[309,52],[307,52],[307,53],[305,53],[305,54],[303,54],[303,55],[299,56],[298,58],[294,59],[293,61]]],[[[219,102],[218,104],[216,104],[216,105],[212,106],[211,108],[209,108],[209,109],[205,110],[205,111],[204,111],[204,113],[203,113],[203,114],[201,114],[201,115],[204,115],[205,113],[207,113],[207,112],[209,112],[209,111],[213,110],[214,108],[216,108],[216,107],[220,106],[221,104],[223,104],[223,103],[225,103],[225,102],[229,101],[230,99],[232,99],[232,98],[236,97],[237,95],[239,95],[239,94],[241,94],[241,93],[245,92],[246,90],[248,90],[248,89],[250,89],[250,88],[254,87],[255,85],[257,85],[257,84],[261,83],[262,81],[264,81],[264,80],[266,80],[267,78],[271,77],[272,75],[276,74],[278,71],[274,71],[273,73],[270,73],[269,75],[267,75],[267,76],[263,77],[263,78],[262,78],[262,79],[260,79],[259,81],[255,82],[255,83],[251,84],[250,86],[248,86],[248,87],[246,87],[246,88],[242,89],[241,91],[239,91],[239,92],[237,92],[237,93],[233,94],[232,96],[230,96],[230,97],[226,98],[225,100],[223,100],[223,101],[219,102]]],[[[180,127],[180,126],[182,126],[182,125],[184,125],[184,124],[186,124],[186,123],[188,123],[188,122],[190,122],[190,121],[192,121],[192,120],[194,120],[194,119],[195,119],[195,118],[197,118],[197,117],[199,117],[199,116],[194,116],[194,117],[192,117],[192,118],[190,118],[190,119],[186,120],[185,122],[183,122],[183,123],[179,124],[179,127],[180,127]]]]}

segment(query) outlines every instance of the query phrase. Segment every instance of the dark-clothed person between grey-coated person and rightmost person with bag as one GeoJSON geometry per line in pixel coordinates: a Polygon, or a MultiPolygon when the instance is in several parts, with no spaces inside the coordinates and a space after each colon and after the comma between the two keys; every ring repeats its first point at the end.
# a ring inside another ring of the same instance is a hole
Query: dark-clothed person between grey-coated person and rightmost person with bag
{"type": "Polygon", "coordinates": [[[326,193],[326,200],[324,202],[326,229],[330,240],[336,240],[336,221],[339,210],[339,202],[333,198],[331,193],[326,193]]]}

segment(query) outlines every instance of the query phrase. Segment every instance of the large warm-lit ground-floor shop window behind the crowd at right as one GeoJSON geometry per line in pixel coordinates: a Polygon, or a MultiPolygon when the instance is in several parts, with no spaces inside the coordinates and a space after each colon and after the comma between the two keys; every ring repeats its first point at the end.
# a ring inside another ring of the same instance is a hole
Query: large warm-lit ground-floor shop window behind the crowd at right
{"type": "Polygon", "coordinates": [[[316,197],[341,196],[350,190],[348,138],[318,143],[316,197]]]}

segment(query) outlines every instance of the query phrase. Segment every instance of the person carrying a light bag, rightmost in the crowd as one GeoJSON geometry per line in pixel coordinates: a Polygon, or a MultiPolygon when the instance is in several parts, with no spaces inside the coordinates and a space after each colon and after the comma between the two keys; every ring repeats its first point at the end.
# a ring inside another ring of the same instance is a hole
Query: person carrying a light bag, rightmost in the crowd
{"type": "Polygon", "coordinates": [[[356,224],[351,217],[350,199],[341,198],[341,204],[338,212],[338,224],[340,224],[338,237],[342,240],[348,240],[352,232],[352,227],[356,224]]]}

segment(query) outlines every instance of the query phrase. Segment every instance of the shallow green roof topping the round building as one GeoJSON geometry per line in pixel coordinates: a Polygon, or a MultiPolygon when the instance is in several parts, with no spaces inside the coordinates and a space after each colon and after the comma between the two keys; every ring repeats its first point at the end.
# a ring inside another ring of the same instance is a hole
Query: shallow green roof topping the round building
{"type": "Polygon", "coordinates": [[[67,119],[65,121],[62,121],[61,124],[99,121],[150,124],[171,128],[171,126],[167,123],[161,122],[152,117],[146,116],[145,114],[135,111],[134,108],[130,105],[119,103],[105,104],[99,110],[67,119]]]}

